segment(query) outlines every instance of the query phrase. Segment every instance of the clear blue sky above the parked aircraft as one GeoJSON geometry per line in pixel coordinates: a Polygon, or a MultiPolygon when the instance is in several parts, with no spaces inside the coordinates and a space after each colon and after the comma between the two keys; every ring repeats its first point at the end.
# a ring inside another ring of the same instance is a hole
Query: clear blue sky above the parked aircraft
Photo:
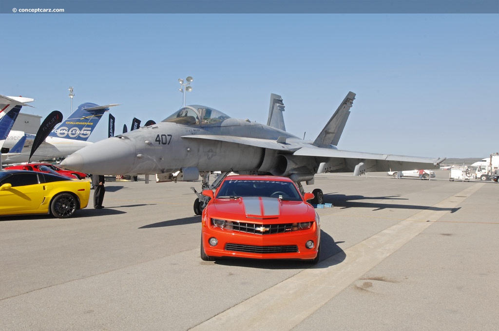
{"type": "MultiPolygon", "coordinates": [[[[357,94],[338,148],[423,157],[499,152],[497,14],[2,14],[0,94],[23,112],[111,109],[116,133],[187,104],[265,124],[280,94],[288,132],[315,139],[357,94]]],[[[106,137],[107,115],[91,139],[106,137]]]]}

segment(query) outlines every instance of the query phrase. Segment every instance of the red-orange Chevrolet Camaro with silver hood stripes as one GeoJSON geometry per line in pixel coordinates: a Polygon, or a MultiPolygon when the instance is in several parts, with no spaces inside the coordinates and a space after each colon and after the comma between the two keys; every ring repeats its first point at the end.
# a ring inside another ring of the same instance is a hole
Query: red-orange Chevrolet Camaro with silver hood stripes
{"type": "Polygon", "coordinates": [[[319,216],[312,193],[302,196],[286,177],[226,177],[202,215],[201,259],[300,259],[317,263],[319,216]]]}

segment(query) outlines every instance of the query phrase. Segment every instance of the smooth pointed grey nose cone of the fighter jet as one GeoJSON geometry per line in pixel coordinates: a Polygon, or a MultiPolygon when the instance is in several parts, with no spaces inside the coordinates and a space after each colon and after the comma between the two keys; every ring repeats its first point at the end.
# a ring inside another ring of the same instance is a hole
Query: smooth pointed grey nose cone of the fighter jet
{"type": "Polygon", "coordinates": [[[133,169],[135,150],[120,138],[109,138],[87,146],[61,165],[72,170],[97,174],[128,174],[133,169]]]}

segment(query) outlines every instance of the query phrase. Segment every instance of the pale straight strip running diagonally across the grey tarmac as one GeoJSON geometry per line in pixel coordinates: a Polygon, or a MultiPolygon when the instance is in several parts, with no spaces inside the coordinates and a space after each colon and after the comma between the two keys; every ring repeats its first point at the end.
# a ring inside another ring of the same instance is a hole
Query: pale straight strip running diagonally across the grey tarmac
{"type": "MultiPolygon", "coordinates": [[[[483,185],[474,184],[433,207],[456,208],[483,185]]],[[[449,212],[430,209],[422,210],[346,249],[343,252],[346,257],[339,253],[323,260],[317,266],[299,272],[191,330],[292,329],[449,212]]]]}

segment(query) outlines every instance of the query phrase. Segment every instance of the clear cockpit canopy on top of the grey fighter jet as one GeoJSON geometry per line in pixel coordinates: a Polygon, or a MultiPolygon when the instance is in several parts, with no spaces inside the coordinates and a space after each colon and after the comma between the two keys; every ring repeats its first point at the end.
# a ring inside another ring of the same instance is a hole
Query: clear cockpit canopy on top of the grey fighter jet
{"type": "Polygon", "coordinates": [[[230,117],[216,109],[200,105],[192,105],[181,108],[179,111],[168,116],[162,122],[196,126],[220,123],[228,118],[230,117]]]}

